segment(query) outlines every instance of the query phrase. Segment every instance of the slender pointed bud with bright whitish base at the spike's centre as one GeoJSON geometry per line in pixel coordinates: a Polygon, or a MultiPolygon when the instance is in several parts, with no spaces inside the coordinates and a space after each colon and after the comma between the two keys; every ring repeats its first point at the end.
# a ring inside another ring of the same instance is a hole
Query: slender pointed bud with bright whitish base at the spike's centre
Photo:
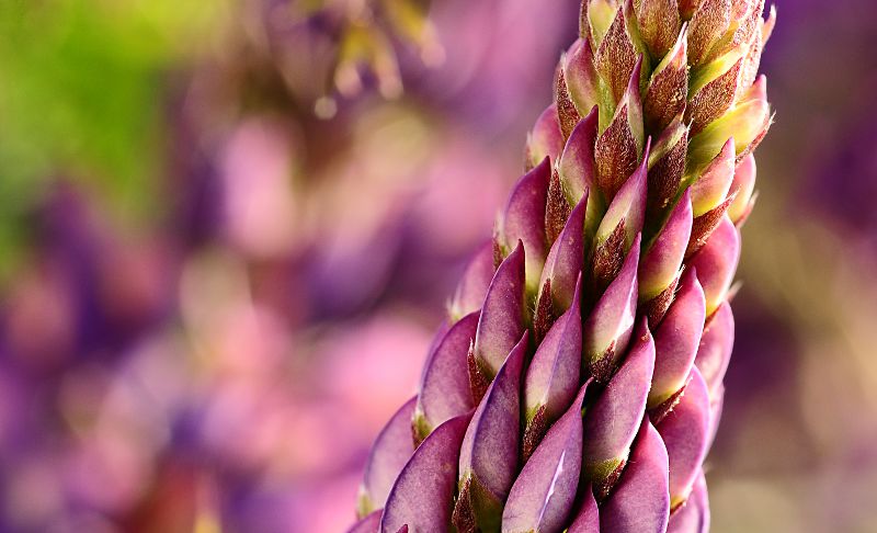
{"type": "Polygon", "coordinates": [[[584,322],[584,361],[600,381],[608,377],[618,358],[627,348],[634,330],[639,243],[640,236],[637,235],[622,271],[603,293],[584,322]],[[597,372],[599,368],[605,372],[597,372]]]}

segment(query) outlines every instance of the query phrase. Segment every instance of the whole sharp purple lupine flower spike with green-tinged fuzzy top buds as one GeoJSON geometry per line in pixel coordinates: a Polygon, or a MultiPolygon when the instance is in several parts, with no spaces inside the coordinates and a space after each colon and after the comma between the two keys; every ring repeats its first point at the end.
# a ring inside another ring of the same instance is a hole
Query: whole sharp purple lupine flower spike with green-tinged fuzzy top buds
{"type": "Polygon", "coordinates": [[[763,0],[588,0],[356,532],[705,532],[763,0]]]}

